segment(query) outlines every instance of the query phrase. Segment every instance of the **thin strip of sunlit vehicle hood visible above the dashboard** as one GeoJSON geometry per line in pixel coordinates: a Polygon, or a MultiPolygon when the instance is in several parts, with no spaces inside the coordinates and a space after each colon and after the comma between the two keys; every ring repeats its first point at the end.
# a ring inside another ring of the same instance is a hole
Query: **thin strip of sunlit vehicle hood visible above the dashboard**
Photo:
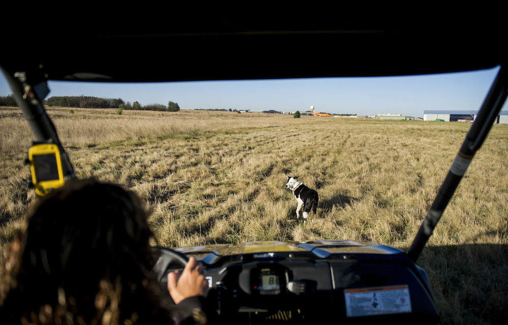
{"type": "Polygon", "coordinates": [[[274,257],[281,253],[312,253],[316,257],[326,258],[332,254],[399,254],[401,250],[367,242],[352,240],[317,240],[308,242],[247,242],[240,244],[211,244],[204,246],[187,246],[175,250],[186,255],[203,258],[212,254],[217,257],[253,254],[254,257],[274,257]]]}

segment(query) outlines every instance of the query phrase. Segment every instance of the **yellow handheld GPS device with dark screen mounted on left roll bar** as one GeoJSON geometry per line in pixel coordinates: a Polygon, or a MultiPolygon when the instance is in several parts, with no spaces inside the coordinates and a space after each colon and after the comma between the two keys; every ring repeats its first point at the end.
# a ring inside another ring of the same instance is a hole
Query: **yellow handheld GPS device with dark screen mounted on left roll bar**
{"type": "Polygon", "coordinates": [[[60,149],[56,144],[34,144],[28,149],[28,161],[32,183],[39,196],[45,196],[65,183],[60,149]]]}

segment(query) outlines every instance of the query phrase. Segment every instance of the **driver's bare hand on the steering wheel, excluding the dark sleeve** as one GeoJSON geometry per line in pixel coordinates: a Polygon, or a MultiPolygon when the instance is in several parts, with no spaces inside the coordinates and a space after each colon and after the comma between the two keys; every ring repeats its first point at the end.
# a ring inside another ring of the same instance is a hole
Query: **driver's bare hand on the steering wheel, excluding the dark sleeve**
{"type": "Polygon", "coordinates": [[[203,268],[196,262],[196,258],[190,257],[180,278],[178,275],[178,271],[168,274],[168,290],[175,304],[193,296],[206,297],[208,281],[205,280],[203,268]]]}

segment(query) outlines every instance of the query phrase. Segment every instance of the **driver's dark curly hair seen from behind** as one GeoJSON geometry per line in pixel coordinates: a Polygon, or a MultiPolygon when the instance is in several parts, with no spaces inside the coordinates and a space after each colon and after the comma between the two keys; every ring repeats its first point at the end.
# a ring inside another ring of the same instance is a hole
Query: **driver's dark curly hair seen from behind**
{"type": "Polygon", "coordinates": [[[118,185],[73,181],[32,206],[0,280],[0,319],[18,324],[172,323],[147,214],[118,185]]]}

